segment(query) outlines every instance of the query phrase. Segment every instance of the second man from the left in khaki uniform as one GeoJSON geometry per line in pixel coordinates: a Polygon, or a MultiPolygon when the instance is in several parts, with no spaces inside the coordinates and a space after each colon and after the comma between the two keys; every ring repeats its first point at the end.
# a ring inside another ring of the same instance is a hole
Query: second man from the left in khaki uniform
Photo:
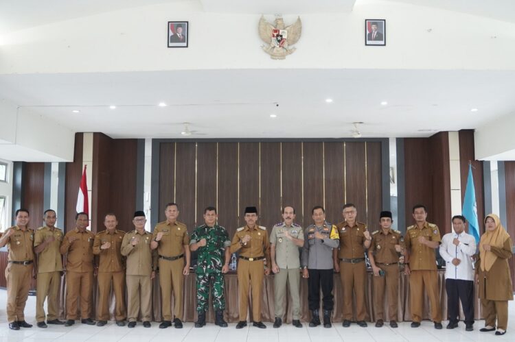
{"type": "Polygon", "coordinates": [[[52,209],[43,213],[45,226],[34,234],[34,253],[38,254],[38,282],[36,286],[36,321],[39,328],[49,324],[64,324],[59,316],[59,286],[62,274],[62,256],[59,247],[62,230],[56,227],[56,212],[52,209]],[[48,297],[48,317],[45,323],[45,298],[48,297]]]}

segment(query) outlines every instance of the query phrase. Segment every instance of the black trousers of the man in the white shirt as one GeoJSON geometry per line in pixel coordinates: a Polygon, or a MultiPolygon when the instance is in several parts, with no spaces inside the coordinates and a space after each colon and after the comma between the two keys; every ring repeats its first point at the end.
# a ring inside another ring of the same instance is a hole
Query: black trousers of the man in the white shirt
{"type": "Polygon", "coordinates": [[[465,324],[474,324],[474,282],[472,280],[446,279],[447,315],[450,323],[459,321],[459,301],[463,307],[465,324]]]}

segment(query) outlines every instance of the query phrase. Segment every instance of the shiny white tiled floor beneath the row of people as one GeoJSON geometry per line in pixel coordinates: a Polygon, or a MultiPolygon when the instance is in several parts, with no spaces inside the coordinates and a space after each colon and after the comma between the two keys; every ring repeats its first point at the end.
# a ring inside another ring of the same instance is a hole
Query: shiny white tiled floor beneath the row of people
{"type": "Polygon", "coordinates": [[[236,330],[236,323],[229,324],[229,328],[218,328],[213,324],[208,324],[204,328],[194,328],[193,323],[185,323],[183,329],[159,329],[159,323],[152,322],[152,328],[143,328],[141,323],[134,329],[118,327],[114,322],[109,322],[106,326],[84,326],[76,323],[75,326],[65,328],[64,326],[49,326],[47,329],[37,328],[34,321],[36,297],[29,297],[25,309],[25,317],[34,327],[21,329],[19,331],[9,330],[5,317],[5,297],[6,291],[0,290],[0,342],[1,341],[62,341],[62,342],[147,342],[147,341],[223,341],[223,342],[278,342],[278,341],[351,341],[351,342],[402,342],[402,341],[421,341],[421,342],[460,342],[460,341],[514,341],[515,339],[515,303],[510,302],[510,321],[508,322],[507,334],[495,336],[493,332],[479,332],[479,328],[484,325],[484,321],[477,321],[474,325],[476,330],[466,332],[464,325],[460,323],[459,328],[446,330],[444,322],[443,330],[435,330],[430,321],[422,322],[422,326],[413,329],[409,322],[400,323],[399,328],[391,329],[388,325],[382,328],[375,328],[373,323],[369,323],[368,328],[361,328],[352,324],[350,328],[343,328],[341,323],[335,323],[331,329],[322,327],[295,328],[284,325],[279,329],[272,328],[272,323],[266,323],[268,328],[258,329],[248,326],[247,328],[236,330]]]}

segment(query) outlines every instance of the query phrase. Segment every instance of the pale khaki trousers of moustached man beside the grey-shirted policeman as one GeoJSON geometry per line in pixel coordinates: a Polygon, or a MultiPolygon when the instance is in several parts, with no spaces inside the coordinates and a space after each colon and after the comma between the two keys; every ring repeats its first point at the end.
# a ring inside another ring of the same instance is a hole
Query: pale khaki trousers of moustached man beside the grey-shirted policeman
{"type": "MultiPolygon", "coordinates": [[[[284,315],[286,282],[288,282],[288,289],[291,295],[292,319],[300,319],[300,271],[298,268],[279,269],[279,273],[274,275],[275,317],[282,318],[284,315]]],[[[286,302],[288,302],[288,299],[286,299],[286,302]]]]}

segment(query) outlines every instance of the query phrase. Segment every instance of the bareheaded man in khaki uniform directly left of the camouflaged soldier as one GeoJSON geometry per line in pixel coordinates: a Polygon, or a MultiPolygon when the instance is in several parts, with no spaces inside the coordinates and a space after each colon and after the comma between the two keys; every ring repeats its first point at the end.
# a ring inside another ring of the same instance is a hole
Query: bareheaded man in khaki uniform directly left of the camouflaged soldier
{"type": "Polygon", "coordinates": [[[174,291],[174,326],[183,328],[184,276],[190,274],[190,236],[186,225],[177,221],[179,207],[169,203],[165,207],[166,221],[157,223],[150,247],[159,254],[159,285],[163,321],[159,328],[172,326],[171,293],[174,291]],[[186,263],[184,262],[186,257],[186,263]]]}

